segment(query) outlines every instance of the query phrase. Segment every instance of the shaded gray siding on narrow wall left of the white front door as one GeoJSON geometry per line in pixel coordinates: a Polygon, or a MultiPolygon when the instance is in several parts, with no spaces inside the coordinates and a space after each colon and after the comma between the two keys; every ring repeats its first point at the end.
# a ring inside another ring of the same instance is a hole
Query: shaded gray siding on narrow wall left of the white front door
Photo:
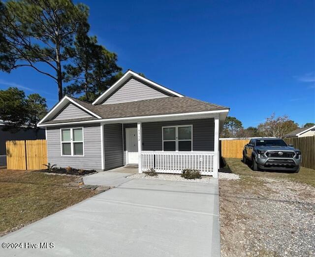
{"type": "Polygon", "coordinates": [[[105,170],[124,165],[122,124],[104,125],[105,170]]]}

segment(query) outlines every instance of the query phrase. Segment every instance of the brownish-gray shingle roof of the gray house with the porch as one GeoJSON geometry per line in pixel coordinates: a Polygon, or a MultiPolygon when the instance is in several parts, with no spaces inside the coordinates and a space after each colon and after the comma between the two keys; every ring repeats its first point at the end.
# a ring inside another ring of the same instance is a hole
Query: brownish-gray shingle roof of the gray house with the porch
{"type": "MultiPolygon", "coordinates": [[[[162,97],[132,102],[99,105],[93,105],[91,103],[81,101],[70,96],[67,97],[71,98],[72,101],[76,102],[78,105],[84,106],[86,109],[97,114],[101,117],[101,119],[229,110],[228,107],[213,103],[207,103],[190,97],[162,97]]],[[[42,122],[41,125],[79,122],[87,120],[98,119],[95,117],[90,117],[68,120],[53,120],[42,122]]]]}

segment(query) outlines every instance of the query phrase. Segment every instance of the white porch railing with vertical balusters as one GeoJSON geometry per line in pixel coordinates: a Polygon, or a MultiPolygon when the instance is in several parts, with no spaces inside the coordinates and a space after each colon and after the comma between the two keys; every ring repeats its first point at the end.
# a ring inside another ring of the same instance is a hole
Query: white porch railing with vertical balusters
{"type": "Polygon", "coordinates": [[[154,168],[159,173],[182,173],[183,169],[196,169],[202,175],[213,175],[215,152],[163,152],[142,151],[141,169],[154,168]]]}

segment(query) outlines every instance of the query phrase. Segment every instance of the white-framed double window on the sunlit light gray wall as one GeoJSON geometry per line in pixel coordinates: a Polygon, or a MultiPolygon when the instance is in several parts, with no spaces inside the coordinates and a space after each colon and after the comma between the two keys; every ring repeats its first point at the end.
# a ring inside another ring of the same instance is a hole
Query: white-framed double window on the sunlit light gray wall
{"type": "Polygon", "coordinates": [[[83,128],[61,129],[62,155],[83,156],[83,128]]]}

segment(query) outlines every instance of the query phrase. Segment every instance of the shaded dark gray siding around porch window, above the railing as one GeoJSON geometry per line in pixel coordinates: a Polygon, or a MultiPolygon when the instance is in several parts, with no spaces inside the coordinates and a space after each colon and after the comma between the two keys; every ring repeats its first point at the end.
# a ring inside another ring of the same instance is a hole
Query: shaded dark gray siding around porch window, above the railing
{"type": "Polygon", "coordinates": [[[143,123],[143,151],[162,151],[162,127],[172,125],[192,125],[193,151],[214,151],[214,119],[143,123]]]}

